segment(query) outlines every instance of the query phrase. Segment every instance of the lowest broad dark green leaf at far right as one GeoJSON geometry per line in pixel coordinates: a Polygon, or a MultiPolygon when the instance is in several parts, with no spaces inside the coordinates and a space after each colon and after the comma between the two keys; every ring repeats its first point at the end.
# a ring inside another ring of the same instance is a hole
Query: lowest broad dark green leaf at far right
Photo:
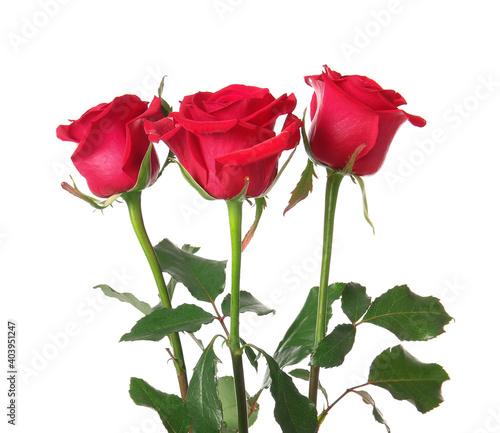
{"type": "Polygon", "coordinates": [[[441,386],[449,379],[443,367],[420,362],[402,346],[377,356],[368,377],[369,384],[388,390],[397,400],[408,400],[422,413],[443,402],[441,386]]]}

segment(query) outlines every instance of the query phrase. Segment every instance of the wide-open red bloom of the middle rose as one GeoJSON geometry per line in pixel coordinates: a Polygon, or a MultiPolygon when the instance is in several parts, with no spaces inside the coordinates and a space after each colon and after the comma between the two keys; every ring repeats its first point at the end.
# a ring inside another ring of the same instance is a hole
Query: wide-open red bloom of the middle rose
{"type": "Polygon", "coordinates": [[[291,114],[297,100],[275,99],[267,89],[233,84],[218,92],[186,96],[179,112],[145,122],[151,141],[164,141],[180,164],[212,197],[264,194],[276,177],[278,158],[300,139],[302,122],[291,114]],[[288,114],[279,135],[276,119],[288,114]]]}

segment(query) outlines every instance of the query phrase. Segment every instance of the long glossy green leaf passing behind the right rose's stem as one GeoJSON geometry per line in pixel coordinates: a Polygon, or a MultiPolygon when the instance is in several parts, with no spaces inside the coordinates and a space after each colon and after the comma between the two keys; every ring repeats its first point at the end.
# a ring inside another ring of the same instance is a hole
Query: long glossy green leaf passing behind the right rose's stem
{"type": "MultiPolygon", "coordinates": [[[[327,323],[332,317],[332,304],[339,299],[345,283],[334,283],[328,286],[327,323]]],[[[314,349],[314,333],[318,315],[318,287],[313,287],[307,296],[298,316],[278,344],[274,358],[280,367],[294,365],[302,361],[314,349]]]]}

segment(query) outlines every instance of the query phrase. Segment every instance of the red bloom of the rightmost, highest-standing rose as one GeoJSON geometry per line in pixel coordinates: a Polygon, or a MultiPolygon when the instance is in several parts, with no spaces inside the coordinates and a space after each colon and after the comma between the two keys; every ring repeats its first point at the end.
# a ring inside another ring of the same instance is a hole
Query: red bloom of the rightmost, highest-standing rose
{"type": "Polygon", "coordinates": [[[305,77],[313,87],[311,152],[320,163],[333,169],[345,167],[354,151],[366,147],[356,158],[353,174],[377,172],[384,162],[398,128],[409,120],[422,127],[425,120],[398,106],[406,104],[394,90],[384,90],[360,75],[342,76],[325,66],[321,75],[305,77]]]}

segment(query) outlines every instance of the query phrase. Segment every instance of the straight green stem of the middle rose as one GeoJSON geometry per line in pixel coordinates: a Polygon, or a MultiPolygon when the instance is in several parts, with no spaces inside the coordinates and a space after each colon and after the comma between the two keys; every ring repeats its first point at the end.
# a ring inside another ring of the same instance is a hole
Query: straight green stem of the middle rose
{"type": "Polygon", "coordinates": [[[238,433],[248,433],[247,397],[243,373],[243,350],[240,345],[240,272],[241,272],[241,219],[243,203],[228,201],[231,231],[231,328],[229,346],[233,361],[234,387],[238,410],[238,433]]]}

